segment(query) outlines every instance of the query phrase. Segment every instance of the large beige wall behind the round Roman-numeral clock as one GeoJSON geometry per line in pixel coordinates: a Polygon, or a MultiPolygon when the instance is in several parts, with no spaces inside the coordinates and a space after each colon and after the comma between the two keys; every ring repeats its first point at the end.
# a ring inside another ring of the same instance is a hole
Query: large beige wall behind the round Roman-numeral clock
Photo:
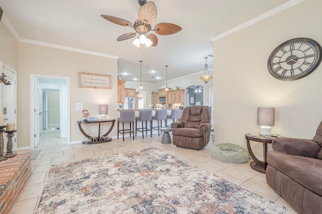
{"type": "MultiPolygon", "coordinates": [[[[267,60],[275,47],[292,38],[308,37],[322,44],[321,10],[322,1],[306,0],[214,42],[215,143],[246,148],[244,134],[259,132],[257,107],[262,106],[276,108],[273,133],[314,136],[322,120],[322,65],[287,82],[271,76],[267,60]]],[[[255,147],[263,156],[263,145],[255,147]]]]}

